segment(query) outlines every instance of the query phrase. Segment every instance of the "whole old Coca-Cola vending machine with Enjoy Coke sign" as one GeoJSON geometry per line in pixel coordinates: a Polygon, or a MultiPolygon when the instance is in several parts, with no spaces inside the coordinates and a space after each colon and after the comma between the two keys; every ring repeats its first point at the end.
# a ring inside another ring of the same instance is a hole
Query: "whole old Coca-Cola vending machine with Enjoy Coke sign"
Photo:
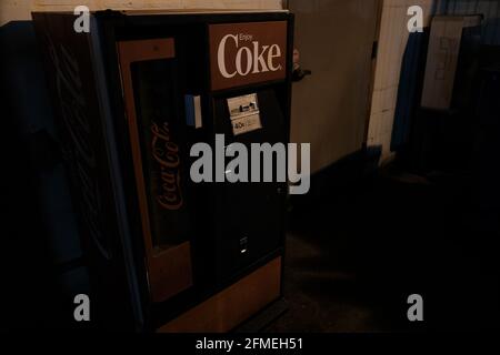
{"type": "Polygon", "coordinates": [[[108,10],[88,32],[73,13],[33,20],[96,326],[224,332],[279,300],[288,185],[233,181],[217,160],[288,143],[292,14],[108,10]],[[212,179],[193,178],[197,144],[212,179]]]}

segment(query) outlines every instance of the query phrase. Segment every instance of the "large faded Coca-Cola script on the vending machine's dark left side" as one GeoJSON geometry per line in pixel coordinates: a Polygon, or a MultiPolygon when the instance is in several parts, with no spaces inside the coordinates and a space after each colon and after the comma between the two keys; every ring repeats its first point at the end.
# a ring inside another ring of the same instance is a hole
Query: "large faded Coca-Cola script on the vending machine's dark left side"
{"type": "MultiPolygon", "coordinates": [[[[92,145],[91,114],[92,106],[88,104],[83,93],[84,59],[78,57],[63,40],[56,44],[48,33],[47,41],[51,59],[52,78],[56,93],[60,101],[61,141],[66,160],[71,166],[78,186],[77,199],[79,213],[86,232],[92,237],[101,255],[111,260],[112,251],[106,239],[104,210],[101,201],[102,186],[99,184],[98,154],[92,145]]],[[[86,37],[79,40],[86,41],[86,37]]],[[[87,43],[86,43],[87,44],[87,43]]],[[[83,44],[78,42],[74,48],[83,44]]]]}

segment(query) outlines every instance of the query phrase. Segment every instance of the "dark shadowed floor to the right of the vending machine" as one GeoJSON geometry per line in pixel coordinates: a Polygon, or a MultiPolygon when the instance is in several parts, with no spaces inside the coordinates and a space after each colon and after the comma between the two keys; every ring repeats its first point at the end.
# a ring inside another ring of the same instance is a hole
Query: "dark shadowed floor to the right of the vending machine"
{"type": "Polygon", "coordinates": [[[287,242],[289,308],[264,332],[492,328],[497,254],[470,179],[386,171],[294,207],[287,242]],[[423,296],[423,323],[407,318],[423,296]]]}

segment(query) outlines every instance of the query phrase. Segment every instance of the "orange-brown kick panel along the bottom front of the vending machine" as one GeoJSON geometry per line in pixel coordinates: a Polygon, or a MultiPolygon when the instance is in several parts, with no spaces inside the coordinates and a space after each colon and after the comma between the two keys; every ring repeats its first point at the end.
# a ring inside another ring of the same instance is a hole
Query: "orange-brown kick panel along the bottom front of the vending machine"
{"type": "Polygon", "coordinates": [[[158,329],[159,333],[229,332],[280,296],[281,257],[277,257],[158,329]]]}

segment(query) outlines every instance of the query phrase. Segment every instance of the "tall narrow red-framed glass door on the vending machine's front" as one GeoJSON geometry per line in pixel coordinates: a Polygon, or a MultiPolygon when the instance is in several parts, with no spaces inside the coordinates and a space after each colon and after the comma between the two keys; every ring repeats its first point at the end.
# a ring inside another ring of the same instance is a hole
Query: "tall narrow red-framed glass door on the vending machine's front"
{"type": "Polygon", "coordinates": [[[174,40],[118,43],[151,300],[192,285],[174,40]]]}

